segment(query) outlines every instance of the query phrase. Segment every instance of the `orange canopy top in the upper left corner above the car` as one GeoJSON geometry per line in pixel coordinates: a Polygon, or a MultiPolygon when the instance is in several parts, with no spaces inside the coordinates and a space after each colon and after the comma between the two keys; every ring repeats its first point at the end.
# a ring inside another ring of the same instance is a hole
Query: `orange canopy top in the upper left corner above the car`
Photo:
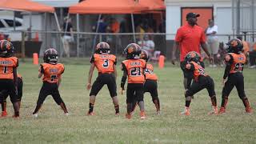
{"type": "Polygon", "coordinates": [[[2,0],[0,1],[0,9],[48,13],[54,13],[55,11],[52,6],[42,5],[30,0],[2,0]]]}

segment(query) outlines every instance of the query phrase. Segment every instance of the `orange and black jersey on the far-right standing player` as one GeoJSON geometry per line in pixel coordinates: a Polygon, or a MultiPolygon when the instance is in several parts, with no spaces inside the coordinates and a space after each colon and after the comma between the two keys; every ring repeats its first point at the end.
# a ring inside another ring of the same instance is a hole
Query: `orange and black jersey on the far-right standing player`
{"type": "Polygon", "coordinates": [[[234,54],[229,53],[229,55],[232,56],[233,62],[231,64],[230,74],[236,73],[236,72],[242,72],[243,66],[246,63],[246,56],[245,54],[234,54]]]}

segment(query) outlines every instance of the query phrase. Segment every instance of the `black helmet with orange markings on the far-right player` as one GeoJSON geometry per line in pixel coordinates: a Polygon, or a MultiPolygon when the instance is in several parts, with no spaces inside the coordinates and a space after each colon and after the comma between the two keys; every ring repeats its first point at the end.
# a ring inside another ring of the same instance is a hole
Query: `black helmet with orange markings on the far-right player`
{"type": "Polygon", "coordinates": [[[226,43],[228,46],[227,52],[228,53],[240,53],[242,52],[242,41],[238,38],[233,38],[229,42],[226,43]]]}

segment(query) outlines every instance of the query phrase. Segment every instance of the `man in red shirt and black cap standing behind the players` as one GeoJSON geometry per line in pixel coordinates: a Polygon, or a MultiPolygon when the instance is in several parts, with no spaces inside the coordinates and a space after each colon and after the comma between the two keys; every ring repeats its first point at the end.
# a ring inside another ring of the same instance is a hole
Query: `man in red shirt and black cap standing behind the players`
{"type": "Polygon", "coordinates": [[[187,53],[190,51],[196,51],[198,54],[201,54],[200,52],[200,46],[202,46],[202,49],[206,52],[206,54],[209,56],[210,60],[212,58],[210,57],[210,53],[207,50],[207,45],[206,45],[206,35],[204,34],[204,30],[202,27],[197,25],[198,17],[200,14],[195,14],[195,13],[188,13],[186,14],[186,21],[187,24],[184,26],[181,26],[177,30],[177,34],[174,40],[174,47],[172,50],[172,59],[171,62],[173,64],[175,58],[175,52],[179,48],[180,50],[180,62],[181,62],[181,68],[183,71],[184,75],[184,88],[187,90],[190,87],[192,78],[190,78],[189,75],[191,74],[186,74],[185,73],[185,67],[186,63],[184,61],[184,57],[186,56],[187,53]]]}

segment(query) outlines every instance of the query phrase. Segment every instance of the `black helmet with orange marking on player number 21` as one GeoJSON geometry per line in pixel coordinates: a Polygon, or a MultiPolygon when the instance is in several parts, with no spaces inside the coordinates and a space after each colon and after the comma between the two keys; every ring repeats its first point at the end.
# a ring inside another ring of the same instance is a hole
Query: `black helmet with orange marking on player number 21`
{"type": "Polygon", "coordinates": [[[136,43],[130,43],[126,46],[125,50],[123,50],[123,54],[125,54],[127,59],[138,59],[140,58],[141,53],[142,48],[136,43]]]}

